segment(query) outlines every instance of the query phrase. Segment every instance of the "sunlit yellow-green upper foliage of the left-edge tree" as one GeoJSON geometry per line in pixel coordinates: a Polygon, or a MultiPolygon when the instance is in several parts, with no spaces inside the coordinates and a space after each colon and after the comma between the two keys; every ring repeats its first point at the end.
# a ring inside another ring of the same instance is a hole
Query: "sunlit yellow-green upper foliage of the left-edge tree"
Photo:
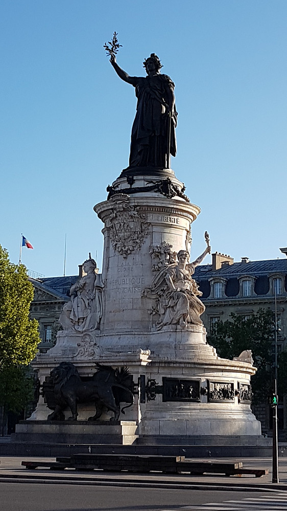
{"type": "Polygon", "coordinates": [[[37,353],[38,322],[29,319],[33,296],[26,267],[11,263],[0,245],[0,369],[27,365],[37,353]]]}

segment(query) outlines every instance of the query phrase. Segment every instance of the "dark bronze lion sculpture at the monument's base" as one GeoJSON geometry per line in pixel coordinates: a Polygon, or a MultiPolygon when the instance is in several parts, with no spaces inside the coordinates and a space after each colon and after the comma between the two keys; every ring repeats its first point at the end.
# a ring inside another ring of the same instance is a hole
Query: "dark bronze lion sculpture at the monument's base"
{"type": "Polygon", "coordinates": [[[47,420],[65,420],[63,410],[71,410],[67,420],[77,420],[78,403],[94,403],[95,415],[88,420],[97,420],[106,408],[114,413],[111,421],[118,420],[119,414],[125,413],[134,403],[134,395],[130,390],[131,374],[127,367],[113,369],[110,366],[97,364],[98,370],[89,381],[83,381],[77,368],[71,362],[61,362],[52,369],[49,382],[43,384],[43,395],[47,406],[54,409],[47,420]],[[120,403],[129,405],[121,409],[120,403]]]}

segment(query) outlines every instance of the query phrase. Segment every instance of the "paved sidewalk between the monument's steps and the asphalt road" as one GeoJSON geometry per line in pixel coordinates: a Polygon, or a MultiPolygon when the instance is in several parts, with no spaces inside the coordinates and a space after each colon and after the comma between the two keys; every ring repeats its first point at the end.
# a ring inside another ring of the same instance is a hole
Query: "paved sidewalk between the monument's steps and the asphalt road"
{"type": "MultiPolygon", "coordinates": [[[[160,487],[160,488],[204,488],[205,490],[234,490],[243,488],[253,491],[286,491],[287,492],[287,458],[279,458],[279,483],[272,483],[272,458],[219,458],[204,459],[209,462],[243,462],[243,468],[268,469],[269,474],[260,478],[253,475],[225,476],[225,475],[203,475],[195,476],[190,474],[161,474],[149,473],[140,474],[132,472],[104,472],[94,470],[93,472],[75,471],[66,469],[62,471],[42,469],[26,469],[21,466],[21,461],[55,461],[55,458],[39,457],[9,457],[0,456],[0,482],[31,482],[46,484],[81,484],[81,485],[118,485],[134,487],[160,487]]],[[[192,461],[200,461],[198,458],[192,461]]]]}

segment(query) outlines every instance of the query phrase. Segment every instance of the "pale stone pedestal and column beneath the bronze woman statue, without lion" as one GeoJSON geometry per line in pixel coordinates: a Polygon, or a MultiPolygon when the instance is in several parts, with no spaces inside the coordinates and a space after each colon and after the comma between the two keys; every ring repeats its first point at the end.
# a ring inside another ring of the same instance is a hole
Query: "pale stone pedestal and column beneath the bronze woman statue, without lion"
{"type": "MultiPolygon", "coordinates": [[[[34,368],[42,383],[62,361],[72,362],[81,376],[91,376],[95,362],[128,366],[136,395],[134,405],[126,409],[128,422],[121,422],[129,431],[121,433],[128,439],[126,443],[260,437],[260,423],[250,409],[253,365],[240,358],[219,358],[206,343],[200,320],[193,324],[186,318],[185,325],[158,321],[159,309],[153,299],[157,276],[159,280],[162,276],[164,290],[168,283],[165,268],[176,265],[176,253],[190,250],[190,225],[200,213],[198,206],[188,202],[173,171],[161,172],[153,180],[151,175],[138,173],[131,180],[130,174],[123,173],[113,183],[110,198],[94,207],[104,223],[100,328],[82,334],[73,329],[60,331],[56,345],[36,357],[34,368]]],[[[196,287],[194,292],[197,294],[196,287]]],[[[164,305],[164,299],[159,303],[164,305]]],[[[79,419],[86,420],[91,408],[79,407],[79,419]]],[[[49,412],[41,397],[27,431],[20,425],[17,434],[22,435],[23,428],[26,434],[32,431],[33,420],[39,424],[33,428],[40,428],[39,420],[46,419],[49,412]]],[[[108,412],[101,418],[110,417],[108,412]]],[[[60,428],[59,438],[65,428],[68,435],[78,431],[83,437],[93,434],[81,422],[79,427],[68,423],[41,427],[54,436],[60,428]]],[[[106,433],[102,429],[101,438],[110,435],[112,443],[111,426],[106,433]]]]}

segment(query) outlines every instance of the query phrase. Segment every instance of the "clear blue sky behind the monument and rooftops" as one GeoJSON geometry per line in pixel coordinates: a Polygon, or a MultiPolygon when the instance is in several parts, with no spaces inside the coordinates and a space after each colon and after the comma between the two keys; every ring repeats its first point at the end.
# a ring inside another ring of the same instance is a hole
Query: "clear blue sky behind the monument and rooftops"
{"type": "MultiPolygon", "coordinates": [[[[178,154],[190,200],[194,258],[205,248],[252,260],[287,246],[286,0],[2,0],[0,243],[45,276],[76,274],[88,252],[102,267],[93,212],[128,165],[134,88],[157,53],[176,84],[178,154]]],[[[209,256],[210,257],[210,256],[209,256]]],[[[285,256],[284,256],[285,257],[285,256]]],[[[211,259],[209,259],[210,262],[211,259]]]]}

